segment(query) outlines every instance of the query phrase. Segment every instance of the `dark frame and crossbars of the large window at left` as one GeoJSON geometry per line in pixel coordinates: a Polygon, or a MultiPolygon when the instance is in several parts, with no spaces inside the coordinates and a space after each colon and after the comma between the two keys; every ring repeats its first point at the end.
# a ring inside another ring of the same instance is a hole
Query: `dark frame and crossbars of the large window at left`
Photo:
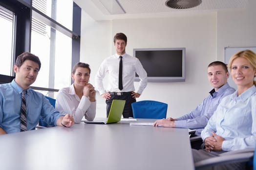
{"type": "MultiPolygon", "coordinates": [[[[31,23],[32,15],[51,28],[72,38],[72,60],[71,68],[80,61],[80,34],[81,34],[81,8],[73,2],[73,30],[69,30],[51,17],[46,16],[38,9],[32,7],[32,0],[0,0],[0,5],[12,11],[16,15],[16,29],[14,30],[14,51],[13,65],[17,56],[24,51],[31,50],[31,23]]],[[[15,78],[15,73],[11,76],[0,74],[0,83],[9,83],[15,78]]],[[[49,81],[54,81],[49,78],[49,81]]],[[[71,78],[70,78],[71,79],[71,78]]],[[[72,81],[71,81],[72,83],[72,81]]],[[[35,90],[56,92],[58,89],[31,86],[35,90]]]]}

